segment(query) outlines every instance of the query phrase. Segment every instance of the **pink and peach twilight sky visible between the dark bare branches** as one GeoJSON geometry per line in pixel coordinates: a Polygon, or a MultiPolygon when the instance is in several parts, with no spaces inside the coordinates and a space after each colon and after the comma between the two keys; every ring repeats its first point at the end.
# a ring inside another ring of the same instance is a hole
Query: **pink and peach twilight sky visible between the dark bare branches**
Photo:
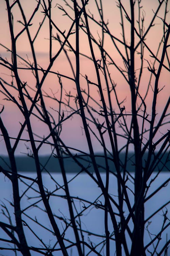
{"type": "MultiPolygon", "coordinates": [[[[11,3],[12,2],[13,1],[11,1],[11,3]]],[[[35,9],[37,2],[34,0],[20,1],[20,2],[23,7],[23,10],[26,14],[27,20],[29,20],[29,17],[31,16],[33,10],[35,9]]],[[[64,6],[64,3],[62,0],[52,2],[52,19],[57,24],[57,26],[61,29],[61,31],[66,30],[65,34],[67,34],[68,29],[71,26],[71,22],[68,17],[62,16],[61,10],[59,10],[57,7],[54,8],[56,3],[64,6]]],[[[124,4],[125,8],[129,12],[129,1],[122,1],[122,3],[124,4]]],[[[9,31],[9,26],[8,26],[8,22],[7,22],[7,11],[5,10],[5,8],[6,8],[5,4],[6,4],[5,1],[0,1],[0,24],[1,24],[1,26],[0,26],[0,34],[1,34],[0,43],[11,49],[10,31],[9,31]]],[[[143,5],[142,9],[145,10],[145,15],[146,15],[145,27],[147,29],[147,26],[153,16],[152,9],[156,10],[157,1],[143,0],[142,5],[143,5]]],[[[94,17],[96,17],[97,19],[99,18],[98,14],[96,12],[95,1],[92,1],[92,0],[89,1],[87,10],[88,9],[90,9],[90,12],[94,14],[94,17]]],[[[116,7],[116,2],[109,1],[109,0],[103,1],[103,10],[104,10],[105,22],[107,21],[107,19],[109,20],[109,26],[108,26],[109,29],[112,31],[112,33],[116,37],[118,37],[120,40],[122,40],[121,26],[119,24],[120,13],[119,13],[118,8],[116,7]]],[[[20,14],[17,4],[13,8],[12,13],[14,16],[14,33],[16,35],[23,28],[23,26],[17,22],[17,20],[21,19],[21,14],[20,14]]],[[[159,16],[162,16],[163,13],[164,13],[164,8],[162,8],[160,10],[159,16]]],[[[71,16],[74,17],[73,12],[69,11],[69,14],[71,14],[71,16]]],[[[137,19],[137,17],[138,17],[137,15],[138,15],[138,13],[136,12],[135,19],[137,19]]],[[[35,31],[37,30],[37,28],[39,26],[39,22],[41,22],[43,17],[44,17],[43,13],[38,11],[36,13],[36,16],[34,17],[33,21],[31,22],[31,23],[33,23],[33,25],[30,27],[30,33],[31,33],[32,38],[34,37],[35,31]]],[[[127,22],[125,21],[125,23],[127,23],[127,22]]],[[[148,33],[147,40],[146,40],[148,46],[151,47],[154,54],[156,54],[159,40],[162,37],[162,27],[163,27],[160,19],[157,18],[155,23],[156,23],[156,25],[151,29],[151,32],[148,33]]],[[[101,30],[99,27],[97,28],[97,26],[91,21],[89,22],[89,25],[90,25],[90,29],[91,29],[93,35],[95,36],[95,38],[98,38],[97,31],[98,31],[99,35],[101,36],[101,30]]],[[[34,48],[35,48],[38,63],[44,69],[46,69],[49,65],[49,40],[48,40],[49,27],[48,26],[49,26],[49,22],[48,22],[48,20],[46,20],[46,22],[43,25],[42,31],[39,33],[37,40],[34,43],[34,48]]],[[[136,26],[137,26],[137,24],[136,24],[136,26]]],[[[57,31],[55,30],[55,28],[53,28],[54,35],[56,35],[56,32],[57,31]]],[[[127,25],[126,29],[125,29],[125,36],[126,36],[127,42],[130,42],[130,33],[129,32],[130,32],[129,26],[127,25]]],[[[61,36],[61,39],[62,39],[62,36],[61,36]]],[[[74,35],[71,35],[69,41],[75,48],[75,36],[74,35]]],[[[136,40],[136,42],[138,42],[138,40],[136,40]]],[[[118,46],[121,47],[120,45],[118,45],[118,46]]],[[[122,58],[117,53],[115,46],[113,45],[111,40],[107,37],[107,35],[105,36],[104,48],[106,49],[107,52],[109,52],[109,54],[114,59],[114,61],[117,63],[117,65],[124,68],[122,58]]],[[[59,44],[57,44],[56,41],[52,41],[53,56],[56,54],[58,49],[59,49],[59,44]]],[[[17,40],[17,51],[18,51],[18,54],[20,54],[24,58],[27,58],[26,57],[26,54],[27,54],[29,56],[30,61],[32,61],[31,49],[29,46],[26,32],[24,32],[17,40]]],[[[84,54],[90,54],[87,37],[81,31],[80,31],[80,51],[84,54]]],[[[122,49],[122,51],[124,53],[123,49],[122,49]]],[[[2,57],[7,57],[8,60],[11,61],[10,54],[7,53],[2,46],[0,46],[0,53],[1,53],[2,57]]],[[[70,56],[70,59],[72,61],[74,71],[75,71],[76,70],[75,57],[71,53],[68,53],[68,54],[70,56]]],[[[96,59],[100,58],[99,50],[97,48],[95,48],[95,54],[96,54],[96,59]]],[[[147,49],[145,49],[145,54],[146,54],[145,58],[148,61],[153,61],[153,59],[149,56],[147,49]]],[[[159,55],[159,57],[160,57],[160,55],[159,55]]],[[[97,82],[93,63],[91,61],[85,59],[84,57],[81,57],[80,61],[81,61],[80,62],[80,65],[81,65],[80,73],[82,75],[85,75],[85,74],[88,75],[88,79],[91,80],[92,82],[97,82]]],[[[166,59],[165,59],[165,64],[166,64],[166,59]]],[[[23,67],[23,66],[18,62],[18,67],[23,67]]],[[[145,95],[145,91],[148,86],[148,81],[149,81],[149,77],[150,77],[150,72],[147,69],[147,67],[148,67],[147,61],[144,61],[143,67],[144,67],[143,68],[143,76],[142,76],[141,85],[140,85],[141,96],[145,95]]],[[[135,69],[138,70],[139,68],[140,68],[140,58],[139,58],[139,55],[136,55],[135,69]]],[[[68,64],[68,61],[67,61],[64,53],[62,53],[56,59],[51,70],[73,77],[70,66],[68,64]]],[[[7,81],[11,81],[11,77],[8,76],[8,75],[10,75],[10,73],[7,73],[7,70],[4,67],[1,66],[0,72],[1,72],[1,77],[3,79],[7,79],[7,81]]],[[[117,94],[118,94],[119,100],[122,101],[126,97],[126,101],[123,104],[125,105],[126,112],[128,113],[128,111],[131,111],[129,85],[125,82],[124,78],[120,75],[120,73],[116,70],[115,67],[110,67],[110,72],[112,75],[112,79],[114,80],[115,83],[117,83],[116,89],[117,89],[117,94]]],[[[19,75],[20,75],[21,81],[24,81],[24,82],[27,81],[27,83],[30,86],[32,86],[32,88],[35,88],[35,79],[31,72],[19,71],[19,75]]],[[[105,81],[103,79],[102,74],[100,74],[100,75],[101,75],[101,81],[103,83],[103,89],[104,89],[106,87],[105,81]]],[[[136,75],[138,75],[138,71],[136,71],[136,75]]],[[[41,74],[40,74],[40,77],[41,77],[41,74]]],[[[63,81],[64,88],[66,89],[67,92],[69,90],[74,91],[73,88],[75,88],[75,84],[73,82],[68,82],[68,80],[66,80],[66,79],[62,79],[62,81],[63,81]]],[[[160,80],[159,80],[159,89],[162,88],[163,86],[165,86],[165,87],[158,94],[157,109],[156,109],[156,111],[158,113],[157,118],[159,117],[159,114],[163,110],[165,102],[167,102],[167,99],[169,97],[169,81],[170,81],[169,72],[165,69],[162,69],[162,73],[161,73],[160,80]]],[[[82,77],[81,77],[80,82],[81,82],[82,88],[87,87],[86,81],[82,77]]],[[[152,79],[151,85],[154,86],[154,79],[152,79]]],[[[58,91],[58,89],[60,89],[60,85],[58,84],[58,81],[57,81],[57,76],[52,75],[52,74],[49,75],[47,77],[47,79],[45,80],[42,89],[45,90],[50,95],[52,95],[51,90],[53,91],[53,93],[56,93],[58,91]]],[[[14,93],[15,97],[17,97],[17,94],[14,90],[12,90],[12,93],[14,93]]],[[[32,93],[32,96],[33,95],[34,95],[34,93],[32,93]]],[[[93,85],[91,85],[91,87],[90,87],[90,95],[95,97],[96,100],[100,100],[100,97],[97,92],[97,88],[93,85]]],[[[4,98],[4,96],[1,94],[0,100],[2,100],[3,98],[4,98]]],[[[151,113],[152,98],[153,98],[153,93],[152,93],[152,88],[150,87],[149,94],[146,99],[148,114],[151,113]]],[[[113,101],[114,100],[115,99],[113,98],[113,101]]],[[[106,102],[107,102],[107,97],[106,97],[106,102]]],[[[5,104],[5,110],[1,115],[2,119],[4,121],[4,124],[5,124],[6,128],[8,129],[9,135],[11,137],[16,137],[17,133],[20,129],[19,121],[23,122],[22,114],[18,111],[17,107],[14,106],[14,104],[12,104],[10,102],[1,101],[1,104],[5,104]]],[[[74,104],[73,99],[72,99],[72,104],[74,104]]],[[[52,102],[51,99],[48,99],[48,98],[46,99],[46,105],[47,105],[48,110],[50,110],[50,107],[54,108],[55,110],[58,108],[58,105],[55,102],[52,102]]],[[[29,103],[28,103],[28,106],[29,106],[29,103]]],[[[113,108],[115,109],[115,111],[118,111],[117,104],[113,104],[113,108]]],[[[62,110],[65,111],[64,113],[66,116],[67,109],[64,105],[62,106],[62,110]]],[[[52,113],[54,116],[56,115],[54,111],[52,113]]],[[[57,120],[57,118],[56,118],[56,120],[57,120]]],[[[37,121],[35,121],[35,118],[33,118],[33,119],[31,119],[31,122],[32,122],[32,127],[33,127],[33,130],[35,133],[38,132],[38,134],[41,136],[48,135],[48,129],[44,125],[42,125],[41,121],[37,122],[37,121]]],[[[81,128],[81,126],[82,126],[82,122],[81,122],[80,117],[78,117],[77,115],[74,116],[73,119],[71,119],[70,121],[67,121],[63,125],[62,138],[64,139],[65,142],[67,142],[67,144],[69,146],[78,147],[84,151],[87,151],[87,143],[86,143],[85,135],[83,133],[83,129],[81,128]],[[71,133],[71,136],[70,136],[70,133],[71,133]]],[[[161,132],[165,132],[166,129],[167,128],[165,128],[165,129],[162,128],[161,132]]],[[[25,131],[23,133],[22,138],[26,138],[26,137],[27,137],[27,133],[25,131]]],[[[93,137],[92,137],[92,140],[94,142],[95,150],[100,151],[98,142],[93,137]]],[[[106,137],[106,141],[107,140],[108,139],[106,137]]],[[[122,143],[123,143],[123,141],[122,141],[122,139],[120,139],[120,146],[122,145],[122,143]]],[[[27,144],[29,144],[29,143],[27,143],[27,144]]],[[[109,141],[108,141],[108,144],[109,144],[109,141]]],[[[108,145],[108,147],[109,147],[109,145],[108,145]]],[[[3,140],[0,140],[0,154],[4,153],[3,149],[4,149],[4,142],[3,142],[3,140]]],[[[20,143],[16,150],[17,154],[19,154],[20,152],[27,152],[24,143],[20,143]]],[[[50,152],[51,152],[50,147],[47,147],[45,149],[42,148],[42,150],[40,151],[41,154],[47,154],[50,152]]]]}

